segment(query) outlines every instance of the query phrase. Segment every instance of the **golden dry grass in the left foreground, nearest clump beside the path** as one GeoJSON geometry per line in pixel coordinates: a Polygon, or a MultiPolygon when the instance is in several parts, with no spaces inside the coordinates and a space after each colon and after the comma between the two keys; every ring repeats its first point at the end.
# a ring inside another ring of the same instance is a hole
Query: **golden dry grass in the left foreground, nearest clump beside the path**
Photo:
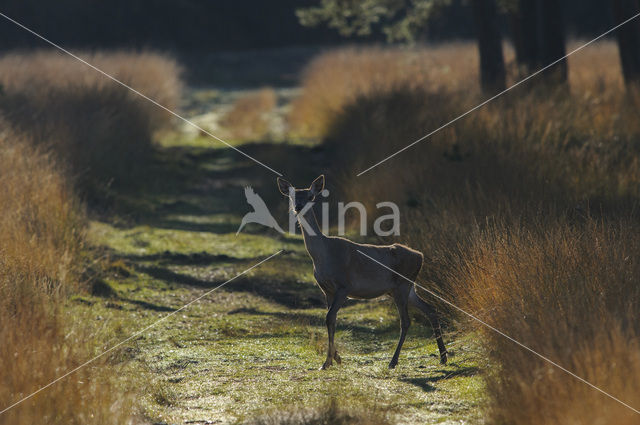
{"type": "MultiPolygon", "coordinates": [[[[2,409],[87,359],[89,330],[70,321],[83,214],[51,155],[0,134],[0,400],[2,409]]],[[[93,367],[0,415],[2,424],[126,421],[126,397],[93,367]],[[123,408],[125,407],[125,408],[123,408]]]]}

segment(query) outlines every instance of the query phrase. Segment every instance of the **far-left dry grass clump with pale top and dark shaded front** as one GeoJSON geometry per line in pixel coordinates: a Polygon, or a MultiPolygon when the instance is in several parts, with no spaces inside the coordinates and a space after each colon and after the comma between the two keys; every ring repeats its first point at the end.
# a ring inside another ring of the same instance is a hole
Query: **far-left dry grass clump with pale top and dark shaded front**
{"type": "MultiPolygon", "coordinates": [[[[168,108],[179,101],[180,69],[154,53],[79,53],[168,108]]],[[[147,100],[55,51],[0,59],[0,112],[69,165],[83,189],[127,187],[142,175],[154,132],[170,116],[147,100]]]]}

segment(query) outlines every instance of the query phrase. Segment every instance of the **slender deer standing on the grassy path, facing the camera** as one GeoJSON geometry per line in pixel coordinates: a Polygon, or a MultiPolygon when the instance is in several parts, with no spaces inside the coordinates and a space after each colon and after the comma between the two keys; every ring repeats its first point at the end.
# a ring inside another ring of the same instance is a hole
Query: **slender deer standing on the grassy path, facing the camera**
{"type": "Polygon", "coordinates": [[[431,323],[440,351],[440,363],[446,364],[447,349],[442,340],[439,314],[415,290],[423,254],[399,243],[371,245],[324,235],[313,211],[314,200],[324,189],[324,182],[324,175],[321,175],[309,188],[296,189],[283,178],[277,179],[280,193],[289,198],[290,211],[296,215],[305,248],[313,262],[313,276],[325,295],[329,343],[327,358],[320,369],[329,368],[333,360],[342,363],[334,334],[338,310],[347,299],[366,300],[385,295],[393,298],[400,315],[400,339],[389,362],[389,369],[398,364],[400,350],[411,324],[409,306],[417,308],[431,323]]]}

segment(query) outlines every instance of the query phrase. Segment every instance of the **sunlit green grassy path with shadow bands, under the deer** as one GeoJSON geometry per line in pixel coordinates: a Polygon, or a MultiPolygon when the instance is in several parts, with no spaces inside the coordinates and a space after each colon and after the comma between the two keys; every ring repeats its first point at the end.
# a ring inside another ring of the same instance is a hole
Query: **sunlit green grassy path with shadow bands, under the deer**
{"type": "MultiPolygon", "coordinates": [[[[75,299],[76,308],[90,311],[114,343],[284,253],[118,353],[127,360],[127,380],[139,387],[143,422],[235,423],[333,399],[346,410],[377,409],[391,423],[477,423],[482,383],[472,341],[448,335],[455,356],[443,367],[430,329],[415,316],[399,366],[389,371],[399,333],[390,300],[343,308],[336,334],[343,364],[318,370],[325,308],[302,240],[257,225],[235,235],[249,211],[245,185],[274,206],[276,218],[286,217],[274,176],[230,149],[202,146],[165,147],[144,195],[118,200],[124,217],[91,223],[90,240],[108,258],[109,274],[94,295],[75,299]]],[[[243,149],[294,178],[317,174],[323,162],[322,152],[304,146],[243,149]],[[311,158],[317,167],[283,158],[311,158]]]]}

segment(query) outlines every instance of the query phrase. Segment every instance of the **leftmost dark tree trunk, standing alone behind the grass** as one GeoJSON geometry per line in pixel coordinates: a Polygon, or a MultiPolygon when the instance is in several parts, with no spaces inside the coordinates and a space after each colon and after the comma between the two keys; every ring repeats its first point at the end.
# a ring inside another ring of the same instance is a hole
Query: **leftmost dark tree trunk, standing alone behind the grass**
{"type": "Polygon", "coordinates": [[[472,3],[480,52],[480,84],[485,93],[494,94],[506,87],[498,9],[494,0],[473,0],[472,3]]]}

